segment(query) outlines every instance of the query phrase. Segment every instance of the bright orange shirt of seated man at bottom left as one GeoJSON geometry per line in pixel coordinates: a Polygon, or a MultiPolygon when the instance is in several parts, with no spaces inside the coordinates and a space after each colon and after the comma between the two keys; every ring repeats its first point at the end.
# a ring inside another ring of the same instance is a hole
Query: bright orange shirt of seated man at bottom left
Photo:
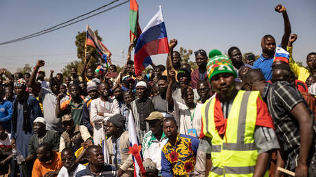
{"type": "Polygon", "coordinates": [[[54,159],[48,163],[43,163],[38,158],[36,159],[33,165],[32,177],[42,177],[47,172],[60,170],[61,167],[63,167],[63,163],[61,163],[60,152],[54,152],[54,159]]]}

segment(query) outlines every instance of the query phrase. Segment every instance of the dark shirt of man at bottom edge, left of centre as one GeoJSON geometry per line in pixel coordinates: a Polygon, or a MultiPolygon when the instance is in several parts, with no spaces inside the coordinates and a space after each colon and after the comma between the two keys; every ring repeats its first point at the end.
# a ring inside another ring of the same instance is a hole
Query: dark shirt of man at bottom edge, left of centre
{"type": "MultiPolygon", "coordinates": [[[[87,165],[86,169],[82,169],[81,171],[77,172],[76,177],[96,176],[96,175],[92,174],[92,172],[90,171],[89,165],[87,165]]],[[[103,168],[102,168],[102,172],[98,176],[104,176],[104,177],[117,176],[117,171],[113,165],[104,163],[103,168]]]]}

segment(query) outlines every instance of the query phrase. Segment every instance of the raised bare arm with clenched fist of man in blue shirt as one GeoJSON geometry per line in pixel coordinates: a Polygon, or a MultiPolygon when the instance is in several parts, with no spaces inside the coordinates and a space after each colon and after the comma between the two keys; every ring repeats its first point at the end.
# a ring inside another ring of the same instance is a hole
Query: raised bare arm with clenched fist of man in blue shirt
{"type": "Polygon", "coordinates": [[[286,8],[279,4],[275,6],[274,10],[276,12],[282,13],[283,20],[284,20],[284,34],[282,37],[281,46],[283,49],[286,49],[286,45],[289,43],[289,37],[291,35],[291,23],[289,16],[287,15],[286,8]]]}

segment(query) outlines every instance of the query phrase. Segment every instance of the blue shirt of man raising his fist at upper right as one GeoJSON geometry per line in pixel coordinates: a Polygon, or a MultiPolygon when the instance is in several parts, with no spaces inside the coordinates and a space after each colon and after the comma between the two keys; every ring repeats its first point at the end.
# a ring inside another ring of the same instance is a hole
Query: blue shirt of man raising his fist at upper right
{"type": "Polygon", "coordinates": [[[273,56],[271,58],[264,58],[261,54],[260,58],[253,62],[253,69],[260,69],[266,80],[271,80],[272,78],[272,66],[273,56]]]}

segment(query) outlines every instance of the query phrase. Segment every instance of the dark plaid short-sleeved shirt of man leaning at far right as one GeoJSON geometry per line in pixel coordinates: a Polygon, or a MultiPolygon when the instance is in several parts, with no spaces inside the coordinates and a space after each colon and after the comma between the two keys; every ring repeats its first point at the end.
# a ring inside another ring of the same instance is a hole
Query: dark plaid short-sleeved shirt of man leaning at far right
{"type": "MultiPolygon", "coordinates": [[[[280,145],[284,149],[286,168],[295,169],[298,165],[300,154],[300,125],[291,115],[291,110],[303,102],[308,112],[313,117],[313,113],[306,104],[302,95],[297,89],[289,84],[289,82],[267,83],[264,86],[262,97],[267,100],[267,105],[273,122],[275,125],[275,133],[278,136],[280,145]]],[[[313,118],[312,118],[313,119],[313,118]]],[[[314,133],[316,132],[314,123],[314,133]]],[[[314,135],[315,137],[315,135],[314,135]]],[[[313,140],[315,142],[315,139],[313,140]]],[[[315,150],[315,143],[311,147],[311,151],[315,150]]],[[[313,156],[313,153],[310,153],[313,156]]]]}

